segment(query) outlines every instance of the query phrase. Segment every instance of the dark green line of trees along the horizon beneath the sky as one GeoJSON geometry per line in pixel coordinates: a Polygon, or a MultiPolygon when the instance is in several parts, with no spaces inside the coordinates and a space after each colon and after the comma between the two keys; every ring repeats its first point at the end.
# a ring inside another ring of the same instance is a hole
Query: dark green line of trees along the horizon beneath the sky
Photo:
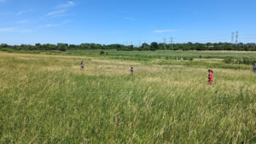
{"type": "Polygon", "coordinates": [[[141,46],[123,45],[123,44],[98,44],[98,43],[81,43],[67,44],[21,44],[21,45],[8,45],[2,43],[0,50],[13,49],[13,50],[76,50],[76,49],[117,49],[122,51],[132,50],[239,50],[239,51],[256,51],[256,43],[143,43],[141,46]]]}

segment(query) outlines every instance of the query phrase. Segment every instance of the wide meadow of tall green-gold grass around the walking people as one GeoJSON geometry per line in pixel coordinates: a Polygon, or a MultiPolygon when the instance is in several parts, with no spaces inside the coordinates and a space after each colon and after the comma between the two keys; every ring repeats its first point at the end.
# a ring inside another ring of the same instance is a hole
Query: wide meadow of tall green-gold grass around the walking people
{"type": "Polygon", "coordinates": [[[106,52],[0,52],[0,143],[256,143],[256,53],[106,52]]]}

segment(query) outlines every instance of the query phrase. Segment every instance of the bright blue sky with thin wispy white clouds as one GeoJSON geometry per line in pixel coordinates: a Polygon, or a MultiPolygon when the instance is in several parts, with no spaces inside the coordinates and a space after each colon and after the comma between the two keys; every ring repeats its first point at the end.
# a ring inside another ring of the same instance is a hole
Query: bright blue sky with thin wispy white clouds
{"type": "Polygon", "coordinates": [[[255,0],[0,0],[0,43],[256,43],[255,0]]]}

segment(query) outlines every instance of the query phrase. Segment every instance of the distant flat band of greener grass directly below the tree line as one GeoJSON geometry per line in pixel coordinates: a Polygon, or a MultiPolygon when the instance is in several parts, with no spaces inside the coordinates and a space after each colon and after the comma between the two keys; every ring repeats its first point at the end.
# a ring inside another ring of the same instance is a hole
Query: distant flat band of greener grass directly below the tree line
{"type": "MultiPolygon", "coordinates": [[[[13,51],[19,53],[35,53],[35,54],[46,54],[46,55],[100,55],[102,49],[90,49],[90,50],[67,50],[65,52],[57,50],[43,50],[43,51],[13,51]]],[[[157,50],[157,51],[117,51],[115,49],[103,51],[113,56],[137,56],[137,57],[146,57],[146,58],[159,58],[159,57],[193,57],[193,58],[215,58],[215,59],[224,59],[227,57],[233,57],[236,59],[241,59],[244,57],[247,58],[256,58],[256,52],[253,51],[172,51],[172,50],[157,50]]],[[[11,52],[11,51],[10,51],[11,52]]]]}

